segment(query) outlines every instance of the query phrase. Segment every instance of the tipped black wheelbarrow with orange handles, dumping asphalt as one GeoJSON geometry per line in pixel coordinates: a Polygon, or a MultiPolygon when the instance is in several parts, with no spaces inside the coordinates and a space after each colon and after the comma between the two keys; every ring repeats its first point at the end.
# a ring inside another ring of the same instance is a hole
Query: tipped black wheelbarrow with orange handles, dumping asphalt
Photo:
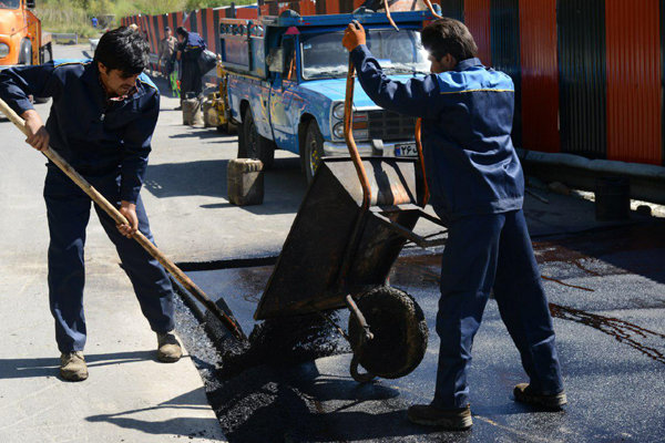
{"type": "Polygon", "coordinates": [[[351,346],[351,377],[367,382],[403,377],[424,356],[422,309],[391,288],[388,275],[407,241],[442,244],[413,233],[420,217],[444,225],[422,209],[429,193],[420,121],[418,158],[361,158],[351,132],[354,83],[349,59],[344,122],[350,157],[328,157],[317,168],[254,317],[323,316],[351,346]],[[347,333],[326,313],[345,307],[347,333]]]}

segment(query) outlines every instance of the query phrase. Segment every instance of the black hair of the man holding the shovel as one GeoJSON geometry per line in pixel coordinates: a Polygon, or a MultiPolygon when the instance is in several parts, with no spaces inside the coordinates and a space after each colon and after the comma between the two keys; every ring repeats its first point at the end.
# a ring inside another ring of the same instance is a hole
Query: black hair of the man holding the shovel
{"type": "Polygon", "coordinates": [[[140,32],[120,27],[102,35],[94,51],[94,61],[124,75],[135,75],[147,66],[147,42],[140,32]]]}

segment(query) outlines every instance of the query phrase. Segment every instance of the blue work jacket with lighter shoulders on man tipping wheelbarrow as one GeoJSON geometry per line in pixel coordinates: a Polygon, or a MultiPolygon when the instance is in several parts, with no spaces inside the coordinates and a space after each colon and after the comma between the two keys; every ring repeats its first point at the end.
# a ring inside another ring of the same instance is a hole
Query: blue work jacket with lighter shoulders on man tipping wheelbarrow
{"type": "Polygon", "coordinates": [[[423,156],[431,205],[456,218],[522,208],[524,176],[510,133],[514,86],[480,60],[456,71],[388,79],[369,49],[351,51],[358,80],[379,106],[422,117],[423,156]]]}

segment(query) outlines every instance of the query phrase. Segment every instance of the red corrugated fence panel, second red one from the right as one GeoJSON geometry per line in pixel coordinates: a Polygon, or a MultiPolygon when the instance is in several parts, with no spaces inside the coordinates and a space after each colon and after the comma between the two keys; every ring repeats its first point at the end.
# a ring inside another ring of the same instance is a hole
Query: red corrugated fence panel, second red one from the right
{"type": "Polygon", "coordinates": [[[560,152],[556,0],[520,0],[522,144],[560,152]]]}

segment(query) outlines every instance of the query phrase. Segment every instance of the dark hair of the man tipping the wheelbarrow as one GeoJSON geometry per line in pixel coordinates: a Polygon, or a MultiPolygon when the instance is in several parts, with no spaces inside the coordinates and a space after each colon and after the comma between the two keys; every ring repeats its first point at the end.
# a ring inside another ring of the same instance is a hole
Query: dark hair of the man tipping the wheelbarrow
{"type": "Polygon", "coordinates": [[[454,56],[458,62],[474,58],[478,47],[473,35],[461,21],[447,17],[434,20],[421,33],[422,45],[430,54],[441,60],[446,54],[454,56]]]}

